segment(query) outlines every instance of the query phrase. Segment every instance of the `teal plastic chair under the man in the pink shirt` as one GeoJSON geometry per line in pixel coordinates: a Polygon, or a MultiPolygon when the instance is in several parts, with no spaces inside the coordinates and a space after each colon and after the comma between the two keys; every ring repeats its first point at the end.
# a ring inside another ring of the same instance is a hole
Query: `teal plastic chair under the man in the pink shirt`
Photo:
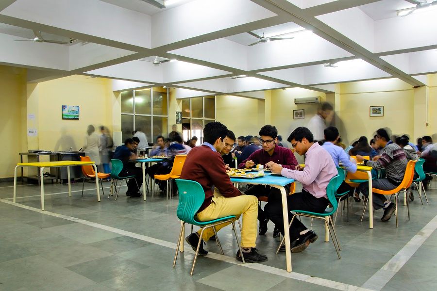
{"type": "MultiPolygon", "coordinates": [[[[288,228],[290,228],[290,226],[293,223],[293,220],[296,218],[296,216],[305,216],[305,217],[311,217],[311,218],[323,220],[325,223],[325,231],[327,229],[329,231],[329,234],[331,235],[332,242],[334,243],[334,247],[336,248],[338,259],[341,259],[340,252],[339,252],[341,249],[340,249],[340,243],[337,240],[336,230],[334,228],[334,224],[333,224],[331,215],[333,215],[338,208],[336,192],[337,192],[338,186],[340,184],[341,184],[340,176],[336,175],[335,177],[333,177],[329,181],[328,186],[326,187],[326,194],[328,196],[329,203],[331,204],[332,207],[328,207],[322,213],[305,211],[305,210],[291,210],[291,211],[295,212],[295,214],[291,218],[291,222],[288,225],[288,228]],[[331,228],[329,227],[330,224],[332,227],[332,232],[331,232],[331,228]]],[[[329,242],[329,236],[328,236],[327,232],[325,233],[325,241],[329,242]]],[[[281,243],[279,244],[279,247],[276,250],[276,254],[279,252],[279,249],[281,248],[281,246],[283,244],[284,244],[284,239],[282,239],[281,243]]]]}

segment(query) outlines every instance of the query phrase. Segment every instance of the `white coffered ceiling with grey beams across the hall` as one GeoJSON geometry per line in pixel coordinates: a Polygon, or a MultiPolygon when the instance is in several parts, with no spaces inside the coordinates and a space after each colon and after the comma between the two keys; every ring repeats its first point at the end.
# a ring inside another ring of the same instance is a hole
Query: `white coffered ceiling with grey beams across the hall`
{"type": "Polygon", "coordinates": [[[324,85],[382,78],[422,86],[418,75],[437,72],[437,5],[396,15],[421,1],[181,0],[159,9],[143,0],[0,0],[0,64],[27,67],[28,81],[84,74],[125,81],[117,89],[175,87],[178,97],[330,92],[324,85]],[[34,31],[73,42],[16,41],[34,31]],[[247,32],[293,38],[248,46],[257,38],[247,32]],[[177,61],[138,61],[155,56],[177,61]]]}

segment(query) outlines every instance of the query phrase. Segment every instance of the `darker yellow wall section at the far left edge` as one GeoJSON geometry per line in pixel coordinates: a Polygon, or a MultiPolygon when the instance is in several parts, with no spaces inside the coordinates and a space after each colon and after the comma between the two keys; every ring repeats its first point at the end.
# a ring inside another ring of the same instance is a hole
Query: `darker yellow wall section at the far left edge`
{"type": "Polygon", "coordinates": [[[26,70],[0,65],[0,178],[14,176],[18,153],[27,150],[26,70]]]}

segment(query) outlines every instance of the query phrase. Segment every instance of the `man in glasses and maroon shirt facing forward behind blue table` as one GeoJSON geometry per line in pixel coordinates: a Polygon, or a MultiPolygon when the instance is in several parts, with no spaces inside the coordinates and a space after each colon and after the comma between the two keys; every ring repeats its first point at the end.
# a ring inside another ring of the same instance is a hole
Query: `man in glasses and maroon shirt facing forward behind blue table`
{"type": "MultiPolygon", "coordinates": [[[[282,146],[276,145],[278,142],[278,130],[271,125],[265,125],[259,131],[259,135],[261,137],[260,143],[263,146],[262,149],[258,149],[252,153],[246,160],[241,162],[238,165],[239,169],[242,168],[253,168],[257,164],[261,164],[265,166],[268,162],[275,162],[281,164],[284,168],[294,169],[298,164],[293,152],[289,148],[285,148],[282,146]]],[[[290,191],[289,185],[286,187],[286,192],[290,191]]],[[[254,196],[268,196],[269,202],[271,200],[281,201],[281,192],[277,188],[271,188],[270,186],[264,185],[253,185],[249,188],[245,194],[254,195],[254,196]]],[[[259,234],[264,235],[267,232],[267,223],[269,222],[269,218],[264,214],[264,211],[261,210],[261,207],[258,207],[258,220],[260,222],[259,225],[259,234]]],[[[279,236],[279,230],[275,228],[273,231],[273,237],[279,236]]]]}

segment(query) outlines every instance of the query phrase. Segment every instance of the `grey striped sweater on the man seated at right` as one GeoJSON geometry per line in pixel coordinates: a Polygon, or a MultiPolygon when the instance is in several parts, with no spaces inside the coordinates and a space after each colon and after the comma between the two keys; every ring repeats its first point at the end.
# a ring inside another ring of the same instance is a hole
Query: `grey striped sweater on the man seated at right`
{"type": "Polygon", "coordinates": [[[396,144],[384,147],[381,158],[376,162],[368,161],[367,166],[375,170],[386,170],[387,179],[395,185],[401,184],[408,160],[402,148],[396,144]]]}

